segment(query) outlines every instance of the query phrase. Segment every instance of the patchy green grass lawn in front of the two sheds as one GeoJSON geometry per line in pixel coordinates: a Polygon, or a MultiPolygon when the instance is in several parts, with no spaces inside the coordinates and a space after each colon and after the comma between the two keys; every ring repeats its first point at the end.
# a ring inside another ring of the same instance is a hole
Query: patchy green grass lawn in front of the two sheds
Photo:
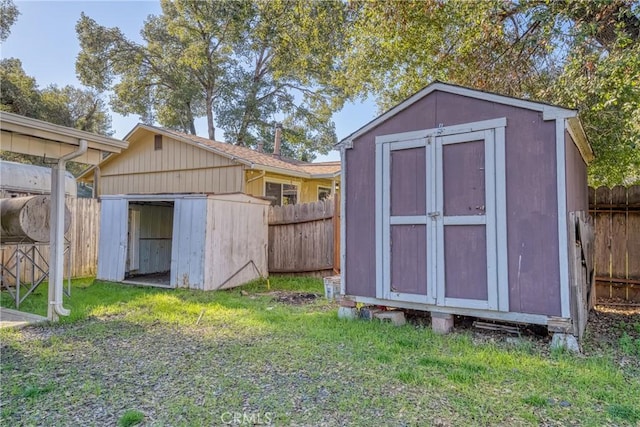
{"type": "MultiPolygon", "coordinates": [[[[292,290],[323,293],[301,278],[209,293],[74,281],[71,317],[0,331],[0,424],[640,423],[633,352],[625,365],[614,349],[340,320],[323,298],[278,302],[292,290]]],[[[45,314],[46,287],[21,308],[45,314]]]]}

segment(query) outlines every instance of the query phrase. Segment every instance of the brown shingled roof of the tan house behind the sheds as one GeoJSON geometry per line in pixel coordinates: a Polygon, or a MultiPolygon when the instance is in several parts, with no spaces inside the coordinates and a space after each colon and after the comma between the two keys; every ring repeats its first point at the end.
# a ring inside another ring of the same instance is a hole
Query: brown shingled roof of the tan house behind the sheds
{"type": "MultiPolygon", "coordinates": [[[[213,141],[196,135],[165,129],[157,126],[137,124],[125,137],[130,141],[139,132],[152,132],[154,134],[165,135],[187,144],[195,145],[203,150],[214,152],[222,157],[226,157],[238,163],[244,164],[251,169],[265,170],[268,172],[280,173],[283,175],[296,176],[301,178],[334,178],[340,175],[340,162],[318,162],[308,163],[286,157],[275,157],[269,153],[262,153],[251,148],[241,147],[226,142],[213,141]]],[[[117,156],[110,156],[104,163],[110,162],[117,156]]],[[[80,178],[89,176],[90,170],[85,171],[80,178]]]]}

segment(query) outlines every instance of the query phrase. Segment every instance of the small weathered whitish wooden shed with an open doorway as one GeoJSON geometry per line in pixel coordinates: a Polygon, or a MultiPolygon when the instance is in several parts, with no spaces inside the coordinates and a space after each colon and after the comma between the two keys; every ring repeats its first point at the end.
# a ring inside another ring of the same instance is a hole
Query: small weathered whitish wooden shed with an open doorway
{"type": "Polygon", "coordinates": [[[236,193],[101,201],[100,280],[216,290],[268,276],[267,200],[236,193]]]}

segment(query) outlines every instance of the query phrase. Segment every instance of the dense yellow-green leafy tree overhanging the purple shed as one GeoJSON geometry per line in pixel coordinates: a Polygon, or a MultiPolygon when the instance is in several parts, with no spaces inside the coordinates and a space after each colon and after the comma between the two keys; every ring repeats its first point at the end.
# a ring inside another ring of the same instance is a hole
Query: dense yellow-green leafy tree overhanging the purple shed
{"type": "MultiPolygon", "coordinates": [[[[435,79],[578,108],[593,184],[640,180],[639,4],[354,3],[340,85],[385,109],[435,79]]],[[[338,75],[339,76],[339,75],[338,75]]]]}

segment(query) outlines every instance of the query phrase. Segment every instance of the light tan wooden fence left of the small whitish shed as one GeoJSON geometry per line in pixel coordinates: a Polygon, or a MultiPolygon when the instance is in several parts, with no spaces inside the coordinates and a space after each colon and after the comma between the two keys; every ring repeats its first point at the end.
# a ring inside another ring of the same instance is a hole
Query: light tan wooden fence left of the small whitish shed
{"type": "MultiPolygon", "coordinates": [[[[65,234],[71,249],[71,262],[68,252],[64,257],[64,275],[71,277],[95,276],[98,265],[98,236],[100,230],[100,204],[97,199],[79,199],[68,197],[67,207],[71,212],[71,226],[65,234]]],[[[30,245],[20,245],[22,252],[27,252],[30,245]]],[[[49,244],[37,245],[40,255],[34,256],[37,266],[48,271],[49,244]]],[[[2,245],[0,260],[2,265],[13,264],[11,261],[15,245],[2,245]]],[[[31,251],[29,250],[29,253],[31,251]]],[[[21,281],[31,280],[31,268],[26,262],[21,262],[21,281]]],[[[5,278],[5,280],[7,280],[5,278]]]]}

